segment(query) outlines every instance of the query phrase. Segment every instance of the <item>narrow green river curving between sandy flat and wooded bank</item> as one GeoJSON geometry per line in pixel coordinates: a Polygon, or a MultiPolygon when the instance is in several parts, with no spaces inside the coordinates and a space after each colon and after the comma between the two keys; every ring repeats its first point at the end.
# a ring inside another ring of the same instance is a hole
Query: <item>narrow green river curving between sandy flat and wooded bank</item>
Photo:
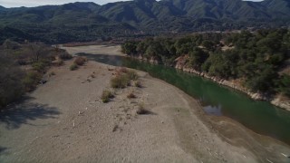
{"type": "Polygon", "coordinates": [[[208,114],[237,120],[256,133],[279,139],[290,145],[290,111],[276,108],[266,101],[253,101],[240,91],[164,65],[154,65],[121,56],[88,53],[80,55],[96,62],[149,72],[152,77],[168,82],[201,101],[203,109],[208,114]]]}

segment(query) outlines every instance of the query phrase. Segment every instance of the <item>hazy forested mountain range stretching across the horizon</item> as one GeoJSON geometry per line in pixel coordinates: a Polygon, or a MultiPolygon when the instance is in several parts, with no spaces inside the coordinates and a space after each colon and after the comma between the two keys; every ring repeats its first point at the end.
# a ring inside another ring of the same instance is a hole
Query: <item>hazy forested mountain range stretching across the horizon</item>
{"type": "Polygon", "coordinates": [[[134,0],[0,7],[0,26],[12,26],[48,43],[289,24],[289,0],[134,0]]]}

